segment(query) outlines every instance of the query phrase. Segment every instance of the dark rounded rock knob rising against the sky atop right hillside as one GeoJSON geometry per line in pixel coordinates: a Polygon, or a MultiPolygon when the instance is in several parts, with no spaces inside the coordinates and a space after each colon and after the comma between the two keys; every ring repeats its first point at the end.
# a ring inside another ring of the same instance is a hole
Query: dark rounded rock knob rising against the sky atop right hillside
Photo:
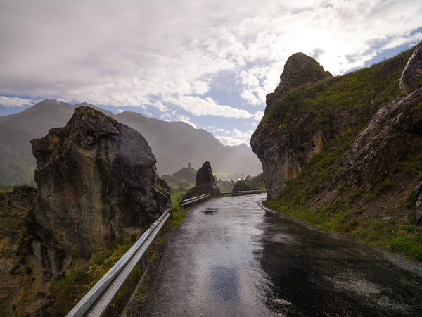
{"type": "Polygon", "coordinates": [[[273,93],[267,94],[265,114],[269,113],[274,101],[281,99],[290,90],[328,76],[331,76],[331,73],[324,71],[324,68],[314,58],[301,52],[293,54],[284,65],[279,86],[273,93]]]}

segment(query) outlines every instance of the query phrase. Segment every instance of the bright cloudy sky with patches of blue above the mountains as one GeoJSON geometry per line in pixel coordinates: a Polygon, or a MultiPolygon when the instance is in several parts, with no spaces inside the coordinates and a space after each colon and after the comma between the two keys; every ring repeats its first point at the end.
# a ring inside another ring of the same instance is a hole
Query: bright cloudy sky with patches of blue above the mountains
{"type": "Polygon", "coordinates": [[[422,41],[421,0],[0,0],[0,115],[51,98],[249,144],[302,51],[335,75],[422,41]]]}

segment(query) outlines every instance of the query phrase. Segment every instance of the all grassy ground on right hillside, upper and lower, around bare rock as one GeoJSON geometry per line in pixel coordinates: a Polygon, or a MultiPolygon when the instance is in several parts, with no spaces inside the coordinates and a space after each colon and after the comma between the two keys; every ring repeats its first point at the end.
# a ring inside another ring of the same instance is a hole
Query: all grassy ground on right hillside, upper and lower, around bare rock
{"type": "Polygon", "coordinates": [[[422,176],[421,144],[413,144],[411,154],[371,184],[351,186],[335,181],[340,159],[374,113],[402,95],[399,78],[411,52],[304,85],[276,101],[263,118],[264,125],[277,126],[290,135],[298,118],[311,113],[314,119],[307,129],[322,129],[331,139],[295,180],[286,183],[279,198],[267,201],[266,206],[316,228],[422,261],[421,226],[411,216],[395,217],[414,213],[411,189],[422,176]],[[343,121],[346,128],[335,135],[335,114],[342,111],[348,116],[343,121]]]}

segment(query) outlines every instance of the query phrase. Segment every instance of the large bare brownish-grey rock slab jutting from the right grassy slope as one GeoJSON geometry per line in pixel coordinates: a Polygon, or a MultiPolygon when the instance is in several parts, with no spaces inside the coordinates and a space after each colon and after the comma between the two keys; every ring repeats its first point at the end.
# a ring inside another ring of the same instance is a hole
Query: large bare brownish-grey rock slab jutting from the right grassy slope
{"type": "Polygon", "coordinates": [[[380,108],[345,154],[336,180],[372,184],[422,142],[422,88],[380,108]]]}

